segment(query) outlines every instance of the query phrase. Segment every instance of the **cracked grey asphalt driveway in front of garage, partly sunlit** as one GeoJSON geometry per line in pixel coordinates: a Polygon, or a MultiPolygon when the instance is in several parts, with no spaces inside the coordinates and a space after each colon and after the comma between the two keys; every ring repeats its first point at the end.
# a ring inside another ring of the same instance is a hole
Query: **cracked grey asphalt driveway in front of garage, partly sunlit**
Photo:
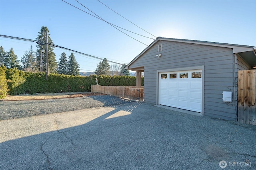
{"type": "Polygon", "coordinates": [[[0,121],[1,170],[219,170],[220,161],[256,169],[256,126],[142,102],[0,121]]]}

